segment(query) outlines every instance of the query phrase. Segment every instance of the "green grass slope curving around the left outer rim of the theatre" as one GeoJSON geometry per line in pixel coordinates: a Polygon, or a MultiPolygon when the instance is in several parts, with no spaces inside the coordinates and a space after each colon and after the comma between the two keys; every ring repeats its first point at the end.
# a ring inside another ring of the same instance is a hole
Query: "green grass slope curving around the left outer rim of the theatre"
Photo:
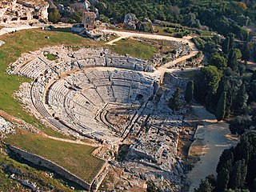
{"type": "Polygon", "coordinates": [[[102,42],[94,42],[89,38],[82,38],[78,35],[46,30],[22,30],[14,34],[5,34],[0,39],[6,44],[0,47],[0,109],[7,113],[13,114],[18,118],[22,118],[26,122],[41,128],[55,137],[62,134],[42,126],[37,118],[28,114],[22,109],[18,100],[14,99],[14,91],[18,90],[22,82],[30,82],[31,80],[16,75],[6,74],[6,69],[11,62],[16,61],[22,53],[34,51],[44,46],[101,46],[102,42]],[[46,36],[49,38],[47,39],[46,36]]]}

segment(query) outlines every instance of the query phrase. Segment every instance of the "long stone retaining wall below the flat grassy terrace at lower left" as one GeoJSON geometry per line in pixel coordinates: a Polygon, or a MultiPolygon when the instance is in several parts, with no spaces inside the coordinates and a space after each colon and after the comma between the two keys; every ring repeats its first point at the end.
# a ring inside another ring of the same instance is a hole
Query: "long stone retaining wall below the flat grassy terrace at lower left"
{"type": "Polygon", "coordinates": [[[71,174],[68,170],[64,169],[62,166],[58,166],[56,163],[47,160],[46,158],[42,158],[36,154],[31,154],[25,150],[21,150],[18,147],[6,145],[8,149],[17,155],[18,157],[26,159],[28,162],[32,162],[37,166],[43,166],[47,169],[53,170],[55,173],[61,175],[62,177],[77,183],[78,185],[84,187],[86,190],[90,190],[91,183],[85,182],[82,178],[78,178],[74,174],[71,174]]]}

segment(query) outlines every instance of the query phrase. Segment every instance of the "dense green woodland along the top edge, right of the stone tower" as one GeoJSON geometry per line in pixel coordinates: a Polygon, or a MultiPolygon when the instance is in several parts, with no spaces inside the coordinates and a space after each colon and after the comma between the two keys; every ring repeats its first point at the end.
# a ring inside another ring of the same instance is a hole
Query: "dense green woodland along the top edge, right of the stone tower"
{"type": "Polygon", "coordinates": [[[96,7],[113,22],[123,22],[126,14],[133,13],[140,19],[159,19],[198,29],[209,27],[224,35],[232,32],[242,40],[249,38],[243,26],[255,21],[254,1],[102,0],[96,7]]]}

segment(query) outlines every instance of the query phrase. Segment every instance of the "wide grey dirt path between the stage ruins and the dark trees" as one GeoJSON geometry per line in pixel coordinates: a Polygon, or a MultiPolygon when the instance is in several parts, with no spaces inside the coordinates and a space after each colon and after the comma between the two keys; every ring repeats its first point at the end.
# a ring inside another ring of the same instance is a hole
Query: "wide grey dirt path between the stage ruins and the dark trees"
{"type": "Polygon", "coordinates": [[[204,124],[202,149],[200,161],[194,164],[194,169],[187,174],[188,182],[190,182],[190,192],[194,191],[201,182],[209,174],[216,174],[216,166],[222,151],[235,146],[238,138],[230,134],[228,124],[226,122],[217,122],[213,114],[210,114],[203,106],[192,106],[194,114],[197,116],[198,122],[204,124]]]}

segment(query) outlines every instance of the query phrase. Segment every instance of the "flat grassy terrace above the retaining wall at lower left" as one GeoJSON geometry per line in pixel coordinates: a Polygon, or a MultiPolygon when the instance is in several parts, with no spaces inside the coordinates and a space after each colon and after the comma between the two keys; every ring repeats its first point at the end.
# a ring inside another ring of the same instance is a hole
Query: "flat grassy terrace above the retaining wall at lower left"
{"type": "Polygon", "coordinates": [[[87,182],[92,181],[104,163],[92,155],[92,146],[55,141],[28,132],[10,135],[5,142],[47,158],[87,182]]]}

